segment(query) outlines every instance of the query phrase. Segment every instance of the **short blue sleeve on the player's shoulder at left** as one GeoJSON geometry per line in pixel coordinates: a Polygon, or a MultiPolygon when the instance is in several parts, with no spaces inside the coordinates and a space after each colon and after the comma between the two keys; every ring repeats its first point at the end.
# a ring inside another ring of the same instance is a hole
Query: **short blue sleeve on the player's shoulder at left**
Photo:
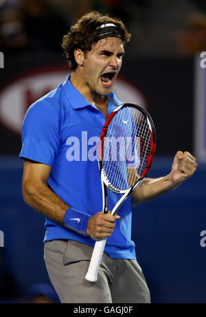
{"type": "Polygon", "coordinates": [[[19,157],[52,166],[59,148],[58,109],[38,100],[27,110],[21,129],[19,157]]]}

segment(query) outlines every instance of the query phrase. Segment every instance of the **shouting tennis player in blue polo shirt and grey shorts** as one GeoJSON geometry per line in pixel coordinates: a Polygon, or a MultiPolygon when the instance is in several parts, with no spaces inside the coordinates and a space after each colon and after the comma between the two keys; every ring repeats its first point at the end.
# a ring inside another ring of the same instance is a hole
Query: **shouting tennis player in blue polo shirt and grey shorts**
{"type": "MultiPolygon", "coordinates": [[[[122,104],[112,89],[128,41],[119,19],[85,14],[62,41],[71,74],[34,102],[23,121],[23,197],[46,218],[45,264],[61,303],[150,303],[131,240],[131,204],[178,187],[196,170],[195,158],[178,151],[170,174],[146,179],[119,215],[101,212],[95,145],[107,116],[122,104]],[[85,274],[102,238],[108,238],[102,265],[91,283],[85,274]]],[[[118,200],[108,190],[109,210],[118,200]]]]}

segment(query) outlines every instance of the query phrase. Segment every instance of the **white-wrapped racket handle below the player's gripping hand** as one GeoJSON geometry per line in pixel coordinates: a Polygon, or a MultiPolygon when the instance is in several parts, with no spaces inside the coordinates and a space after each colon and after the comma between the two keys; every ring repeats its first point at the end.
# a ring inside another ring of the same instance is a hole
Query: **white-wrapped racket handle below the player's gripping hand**
{"type": "Polygon", "coordinates": [[[91,261],[89,264],[89,269],[85,276],[87,281],[90,281],[90,282],[98,281],[98,271],[100,268],[100,263],[102,261],[105,244],[106,244],[106,238],[95,242],[95,246],[93,248],[93,254],[91,256],[91,261]]]}

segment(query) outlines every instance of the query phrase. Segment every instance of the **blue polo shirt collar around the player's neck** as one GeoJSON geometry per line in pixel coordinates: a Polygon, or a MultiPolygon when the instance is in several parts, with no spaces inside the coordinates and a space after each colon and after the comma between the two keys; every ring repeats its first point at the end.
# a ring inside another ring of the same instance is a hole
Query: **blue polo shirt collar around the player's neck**
{"type": "MultiPolygon", "coordinates": [[[[69,74],[67,76],[67,79],[65,80],[65,83],[63,83],[63,89],[65,92],[65,96],[67,97],[67,99],[69,100],[71,107],[73,109],[79,109],[79,108],[84,108],[87,107],[89,105],[91,105],[89,103],[89,101],[87,99],[85,99],[82,94],[80,94],[80,92],[73,87],[73,85],[70,83],[69,78],[70,78],[71,74],[69,74]]],[[[120,102],[116,96],[113,94],[113,92],[111,92],[111,94],[108,95],[112,100],[114,100],[118,105],[122,105],[122,102],[120,102]]],[[[110,101],[108,100],[108,103],[110,101]]],[[[111,102],[112,103],[112,102],[111,102]]],[[[113,104],[113,109],[115,109],[115,107],[117,107],[116,105],[113,104]]]]}

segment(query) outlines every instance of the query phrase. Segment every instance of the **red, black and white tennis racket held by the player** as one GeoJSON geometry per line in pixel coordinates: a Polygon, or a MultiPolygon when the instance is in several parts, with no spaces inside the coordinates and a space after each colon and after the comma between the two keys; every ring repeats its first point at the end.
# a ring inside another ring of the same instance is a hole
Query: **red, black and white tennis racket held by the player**
{"type": "MultiPolygon", "coordinates": [[[[155,126],[149,113],[139,105],[126,103],[108,116],[98,147],[98,162],[102,182],[102,212],[108,212],[107,188],[123,194],[111,215],[126,198],[144,181],[155,155],[155,126]]],[[[88,281],[98,279],[106,239],[95,242],[88,281]]]]}

